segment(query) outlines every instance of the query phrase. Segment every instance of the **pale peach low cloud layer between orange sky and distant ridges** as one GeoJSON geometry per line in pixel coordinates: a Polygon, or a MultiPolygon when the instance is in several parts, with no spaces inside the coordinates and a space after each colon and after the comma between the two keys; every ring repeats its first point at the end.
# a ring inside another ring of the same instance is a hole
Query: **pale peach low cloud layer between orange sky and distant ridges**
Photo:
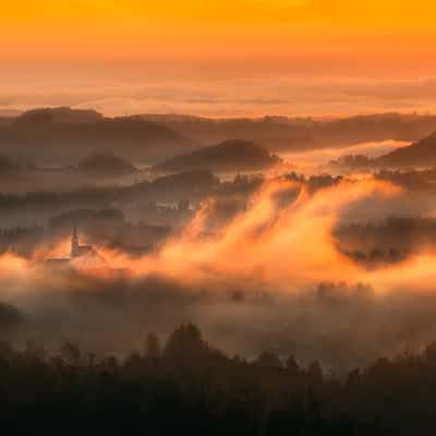
{"type": "Polygon", "coordinates": [[[38,81],[5,77],[0,92],[0,110],[11,113],[41,106],[69,105],[96,109],[108,116],[192,113],[207,117],[323,117],[434,110],[436,81],[353,77],[38,81]]]}

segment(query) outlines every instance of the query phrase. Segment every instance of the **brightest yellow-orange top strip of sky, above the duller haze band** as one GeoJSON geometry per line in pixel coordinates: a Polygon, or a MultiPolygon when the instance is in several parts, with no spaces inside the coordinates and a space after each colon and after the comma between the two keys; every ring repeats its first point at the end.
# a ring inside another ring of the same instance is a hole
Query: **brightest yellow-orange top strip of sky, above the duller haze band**
{"type": "Polygon", "coordinates": [[[435,16],[427,0],[20,0],[2,4],[0,57],[424,60],[435,16]]]}

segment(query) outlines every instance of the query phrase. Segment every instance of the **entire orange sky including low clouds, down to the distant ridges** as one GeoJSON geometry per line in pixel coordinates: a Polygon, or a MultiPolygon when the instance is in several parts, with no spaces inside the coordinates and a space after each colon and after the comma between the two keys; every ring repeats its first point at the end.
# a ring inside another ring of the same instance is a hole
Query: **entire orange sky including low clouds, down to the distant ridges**
{"type": "Polygon", "coordinates": [[[3,0],[0,110],[60,102],[105,109],[107,99],[113,109],[123,94],[129,101],[117,113],[433,109],[435,16],[436,2],[428,0],[3,0]],[[314,86],[282,85],[307,77],[314,86]],[[237,80],[245,82],[214,82],[237,80]],[[162,81],[158,95],[145,93],[144,86],[156,89],[156,81],[162,81]],[[73,96],[71,89],[78,88],[81,97],[78,90],[73,96]],[[162,99],[165,89],[173,89],[171,104],[162,99]],[[214,108],[191,105],[198,92],[214,108]],[[146,105],[136,105],[138,93],[146,105]],[[229,94],[235,101],[221,101],[216,110],[215,102],[229,94]],[[278,99],[293,106],[263,104],[278,99]],[[241,100],[258,105],[239,110],[241,100]]]}

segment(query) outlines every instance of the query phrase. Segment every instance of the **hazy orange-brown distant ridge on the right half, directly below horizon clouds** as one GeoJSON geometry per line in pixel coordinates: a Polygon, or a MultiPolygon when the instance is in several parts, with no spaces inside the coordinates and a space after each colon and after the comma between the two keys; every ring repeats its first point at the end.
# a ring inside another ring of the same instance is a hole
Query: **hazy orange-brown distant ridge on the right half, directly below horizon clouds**
{"type": "Polygon", "coordinates": [[[275,153],[389,140],[414,142],[436,131],[436,116],[395,112],[334,120],[311,117],[209,119],[178,114],[147,114],[142,118],[204,144],[240,138],[275,153]]]}

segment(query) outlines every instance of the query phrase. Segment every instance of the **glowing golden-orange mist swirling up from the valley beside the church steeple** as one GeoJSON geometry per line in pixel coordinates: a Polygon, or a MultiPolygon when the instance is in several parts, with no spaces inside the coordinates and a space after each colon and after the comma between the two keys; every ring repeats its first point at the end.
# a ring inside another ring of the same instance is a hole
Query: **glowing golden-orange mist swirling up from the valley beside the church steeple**
{"type": "MultiPolygon", "coordinates": [[[[293,294],[304,293],[323,281],[344,281],[368,284],[377,293],[397,289],[434,291],[434,252],[423,250],[401,264],[372,270],[342,255],[332,237],[336,223],[350,205],[368,197],[383,199],[400,194],[398,186],[372,179],[344,181],[315,194],[308,194],[299,183],[266,182],[252,198],[252,207],[214,237],[204,238],[205,221],[214,213],[213,204],[206,203],[181,235],[154,254],[132,257],[99,247],[110,266],[108,270],[86,270],[81,265],[74,268],[77,277],[92,275],[112,280],[119,271],[132,280],[160,276],[194,289],[222,290],[227,283],[239,289],[293,294]],[[289,191],[295,191],[296,198],[283,209],[277,208],[277,195],[289,191]]],[[[62,240],[58,246],[36,250],[33,261],[5,254],[0,256],[0,274],[3,279],[17,282],[50,281],[52,274],[40,266],[40,259],[66,252],[68,241],[62,240]]]]}

